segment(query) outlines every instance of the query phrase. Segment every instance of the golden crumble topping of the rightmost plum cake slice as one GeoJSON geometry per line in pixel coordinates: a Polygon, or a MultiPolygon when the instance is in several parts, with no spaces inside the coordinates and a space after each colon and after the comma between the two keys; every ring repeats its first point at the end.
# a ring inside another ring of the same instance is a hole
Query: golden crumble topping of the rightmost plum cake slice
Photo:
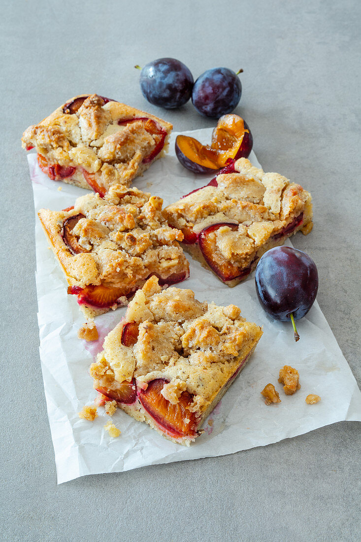
{"type": "MultiPolygon", "coordinates": [[[[312,204],[310,193],[300,185],[278,173],[264,173],[246,158],[237,160],[235,169],[218,175],[217,186],[205,186],[168,205],[164,212],[173,227],[191,228],[196,234],[211,224],[225,223],[208,234],[215,246],[213,257],[245,268],[266,243],[276,243],[278,233],[301,213],[299,227],[302,233],[309,233],[312,204]],[[229,223],[237,229],[231,229],[229,223]]],[[[190,251],[191,247],[185,246],[190,251]]]]}

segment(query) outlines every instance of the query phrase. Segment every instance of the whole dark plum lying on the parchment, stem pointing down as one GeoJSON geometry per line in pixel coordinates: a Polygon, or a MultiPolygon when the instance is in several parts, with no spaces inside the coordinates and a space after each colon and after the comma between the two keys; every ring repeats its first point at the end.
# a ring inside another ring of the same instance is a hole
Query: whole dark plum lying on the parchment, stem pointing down
{"type": "Polygon", "coordinates": [[[275,320],[303,318],[318,290],[317,267],[308,254],[291,247],[268,250],[257,264],[256,292],[262,308],[275,320]]]}

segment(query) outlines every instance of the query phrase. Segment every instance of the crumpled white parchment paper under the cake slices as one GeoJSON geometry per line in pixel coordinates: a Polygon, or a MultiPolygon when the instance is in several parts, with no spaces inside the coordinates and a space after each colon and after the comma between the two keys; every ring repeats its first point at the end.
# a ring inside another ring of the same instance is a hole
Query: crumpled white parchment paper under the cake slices
{"type": "MultiPolygon", "coordinates": [[[[211,137],[208,128],[185,133],[204,143],[209,143],[211,137]]],[[[174,152],[176,135],[172,134],[169,154],[134,183],[141,190],[161,196],[164,205],[207,184],[211,178],[193,175],[178,163],[174,152]]],[[[250,160],[259,166],[254,153],[250,160]]],[[[36,154],[29,154],[28,161],[35,211],[70,207],[76,197],[86,193],[75,186],[51,181],[38,168],[36,154]]],[[[98,409],[99,417],[94,422],[81,420],[78,412],[94,401],[96,391],[88,374],[89,365],[126,308],[96,318],[96,343],[79,340],[77,332],[85,319],[75,296],[67,295],[65,276],[48,248],[37,217],[35,233],[40,358],[58,483],[85,474],[231,454],[341,420],[361,421],[361,393],[317,301],[306,317],[297,322],[301,339],[295,343],[291,324],[270,320],[263,312],[256,298],[254,273],[235,288],[228,288],[187,255],[190,278],[176,286],[191,288],[201,301],[238,305],[245,318],[263,326],[263,336],[240,377],[204,424],[205,433],[189,448],[167,441],[120,409],[112,421],[121,435],[110,437],[104,429],[109,419],[104,409],[98,409]],[[286,396],[277,382],[283,365],[292,365],[300,373],[301,389],[293,396],[286,396]],[[275,384],[281,403],[266,406],[263,402],[260,391],[268,382],[275,384]],[[307,405],[305,398],[309,393],[317,393],[321,401],[307,405]]]]}

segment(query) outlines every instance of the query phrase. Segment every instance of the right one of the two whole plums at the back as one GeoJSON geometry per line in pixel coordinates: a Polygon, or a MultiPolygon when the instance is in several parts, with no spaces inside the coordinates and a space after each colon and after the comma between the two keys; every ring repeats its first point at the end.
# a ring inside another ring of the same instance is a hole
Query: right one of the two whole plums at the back
{"type": "Polygon", "coordinates": [[[233,111],[241,94],[241,81],[233,70],[213,68],[199,75],[194,83],[192,102],[205,117],[219,119],[233,111]]]}

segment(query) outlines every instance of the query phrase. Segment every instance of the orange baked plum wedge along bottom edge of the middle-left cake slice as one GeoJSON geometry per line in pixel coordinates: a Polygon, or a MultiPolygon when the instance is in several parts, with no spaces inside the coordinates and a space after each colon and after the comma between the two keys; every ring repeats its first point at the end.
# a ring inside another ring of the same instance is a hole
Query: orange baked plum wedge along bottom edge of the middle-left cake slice
{"type": "Polygon", "coordinates": [[[133,292],[124,292],[124,288],[109,288],[102,284],[95,286],[90,284],[81,288],[80,286],[69,286],[68,294],[76,295],[79,305],[89,305],[96,308],[109,308],[117,303],[123,296],[130,296],[133,292]]]}

